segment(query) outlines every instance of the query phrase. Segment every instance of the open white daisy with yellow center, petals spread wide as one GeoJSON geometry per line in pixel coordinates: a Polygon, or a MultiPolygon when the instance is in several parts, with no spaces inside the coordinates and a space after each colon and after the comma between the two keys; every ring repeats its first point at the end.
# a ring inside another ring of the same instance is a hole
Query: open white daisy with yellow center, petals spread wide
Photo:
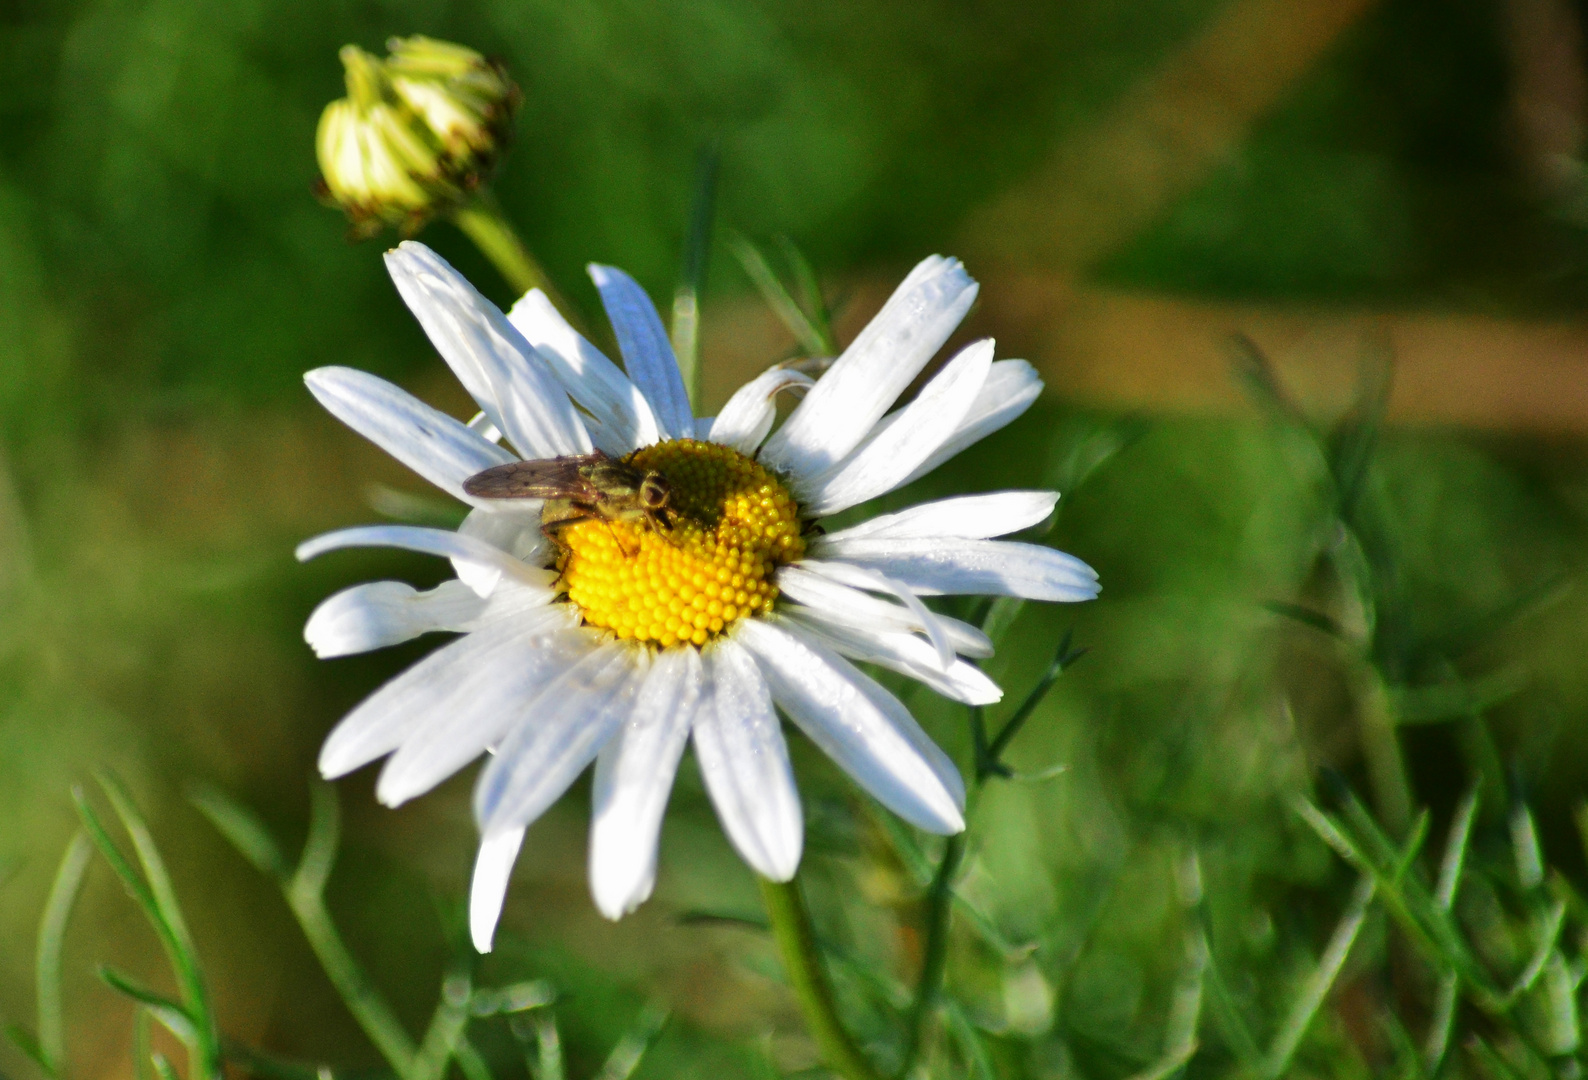
{"type": "Polygon", "coordinates": [[[403,243],[386,262],[480,416],[459,422],[345,367],[310,372],[308,388],[472,510],[456,532],[343,529],[303,543],[299,557],[395,546],[445,556],[457,577],[426,592],[354,586],[321,604],[303,634],[322,658],[430,631],[461,637],[354,708],[319,767],[335,778],[389,754],[376,794],[399,805],[491,754],[475,788],[483,839],[470,924],[481,951],[526,826],[592,761],[589,877],[608,918],[651,894],[662,812],[689,742],[735,850],[757,874],[789,880],[804,826],[777,708],[910,824],[964,829],[954,764],[851,661],[954,700],[996,702],[1002,691],[961,659],[989,656],[988,638],[919,597],[1094,597],[1085,562],[991,538],[1043,521],[1058,494],[943,499],[815,529],[931,472],[1037,399],[1029,364],[994,362],[992,341],[977,341],[889,411],[977,295],[958,260],[921,262],[818,381],[772,368],[705,419],[689,408],[656,308],[621,270],[592,265],[591,276],[627,373],[538,291],[502,314],[424,245],[403,243]],[[772,432],[783,391],[804,400],[772,432]],[[551,540],[540,500],[465,488],[519,457],[591,454],[657,473],[665,513],[561,523],[551,540]]]}

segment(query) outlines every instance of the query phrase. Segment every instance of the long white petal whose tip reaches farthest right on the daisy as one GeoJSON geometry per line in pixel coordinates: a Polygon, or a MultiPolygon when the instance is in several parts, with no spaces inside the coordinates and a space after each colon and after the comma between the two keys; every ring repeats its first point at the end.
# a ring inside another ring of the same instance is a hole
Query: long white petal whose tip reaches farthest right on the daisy
{"type": "Polygon", "coordinates": [[[872,567],[926,596],[978,592],[1027,600],[1091,600],[1097,572],[1072,554],[1013,540],[834,540],[824,559],[872,567]]]}

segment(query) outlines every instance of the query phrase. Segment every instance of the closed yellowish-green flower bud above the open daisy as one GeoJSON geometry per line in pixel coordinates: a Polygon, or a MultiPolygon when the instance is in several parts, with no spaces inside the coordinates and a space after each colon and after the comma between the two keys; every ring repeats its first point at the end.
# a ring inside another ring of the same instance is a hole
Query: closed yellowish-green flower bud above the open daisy
{"type": "Polygon", "coordinates": [[[489,179],[513,129],[519,91],[500,64],[432,38],[392,38],[381,60],[343,46],[348,97],[319,118],[321,199],[346,211],[354,238],[386,226],[413,235],[489,179]]]}

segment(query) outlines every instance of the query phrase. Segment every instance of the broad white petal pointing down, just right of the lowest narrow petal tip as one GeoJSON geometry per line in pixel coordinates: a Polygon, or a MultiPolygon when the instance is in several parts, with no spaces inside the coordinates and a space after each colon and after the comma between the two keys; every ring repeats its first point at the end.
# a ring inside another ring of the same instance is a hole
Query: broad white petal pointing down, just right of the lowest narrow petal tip
{"type": "Polygon", "coordinates": [[[656,654],[634,715],[596,756],[591,793],[591,894],[607,918],[622,918],[651,896],[656,839],[703,673],[692,648],[656,654]]]}

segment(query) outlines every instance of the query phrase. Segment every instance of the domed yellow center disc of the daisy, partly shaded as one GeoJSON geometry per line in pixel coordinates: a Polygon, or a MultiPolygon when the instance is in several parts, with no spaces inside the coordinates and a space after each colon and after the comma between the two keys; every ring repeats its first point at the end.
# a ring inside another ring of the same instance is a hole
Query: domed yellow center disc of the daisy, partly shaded
{"type": "Polygon", "coordinates": [[[805,554],[799,507],[777,476],[735,449],[692,438],[624,461],[667,478],[670,526],[635,515],[557,534],[562,588],[584,621],[667,648],[705,645],[770,610],[772,575],[805,554]]]}

